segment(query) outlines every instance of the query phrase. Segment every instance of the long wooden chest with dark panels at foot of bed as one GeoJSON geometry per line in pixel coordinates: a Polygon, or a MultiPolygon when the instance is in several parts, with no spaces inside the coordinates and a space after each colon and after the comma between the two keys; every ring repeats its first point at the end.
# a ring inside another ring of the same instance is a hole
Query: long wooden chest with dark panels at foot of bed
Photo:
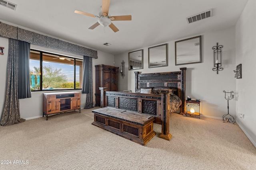
{"type": "Polygon", "coordinates": [[[154,117],[134,111],[102,107],[92,110],[92,125],[110,131],[141,145],[146,145],[156,135],[153,131],[154,117]]]}

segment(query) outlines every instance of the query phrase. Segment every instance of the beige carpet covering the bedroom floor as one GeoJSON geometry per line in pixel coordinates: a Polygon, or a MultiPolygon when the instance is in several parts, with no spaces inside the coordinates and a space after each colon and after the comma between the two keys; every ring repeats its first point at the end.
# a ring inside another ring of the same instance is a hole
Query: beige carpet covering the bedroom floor
{"type": "Polygon", "coordinates": [[[154,124],[156,136],[146,146],[92,122],[91,109],[82,109],[81,113],[55,115],[48,121],[42,117],[0,127],[0,169],[256,169],[254,145],[238,125],[222,120],[172,113],[172,139],[159,138],[161,125],[154,124]],[[3,160],[10,164],[4,165],[3,160]]]}

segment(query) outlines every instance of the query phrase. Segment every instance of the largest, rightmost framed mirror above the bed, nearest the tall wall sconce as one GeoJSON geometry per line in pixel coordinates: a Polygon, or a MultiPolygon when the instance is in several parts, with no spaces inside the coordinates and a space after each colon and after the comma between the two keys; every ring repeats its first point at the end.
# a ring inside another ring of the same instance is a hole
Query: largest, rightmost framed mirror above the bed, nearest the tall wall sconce
{"type": "Polygon", "coordinates": [[[175,42],[175,65],[202,63],[201,35],[175,42]]]}

